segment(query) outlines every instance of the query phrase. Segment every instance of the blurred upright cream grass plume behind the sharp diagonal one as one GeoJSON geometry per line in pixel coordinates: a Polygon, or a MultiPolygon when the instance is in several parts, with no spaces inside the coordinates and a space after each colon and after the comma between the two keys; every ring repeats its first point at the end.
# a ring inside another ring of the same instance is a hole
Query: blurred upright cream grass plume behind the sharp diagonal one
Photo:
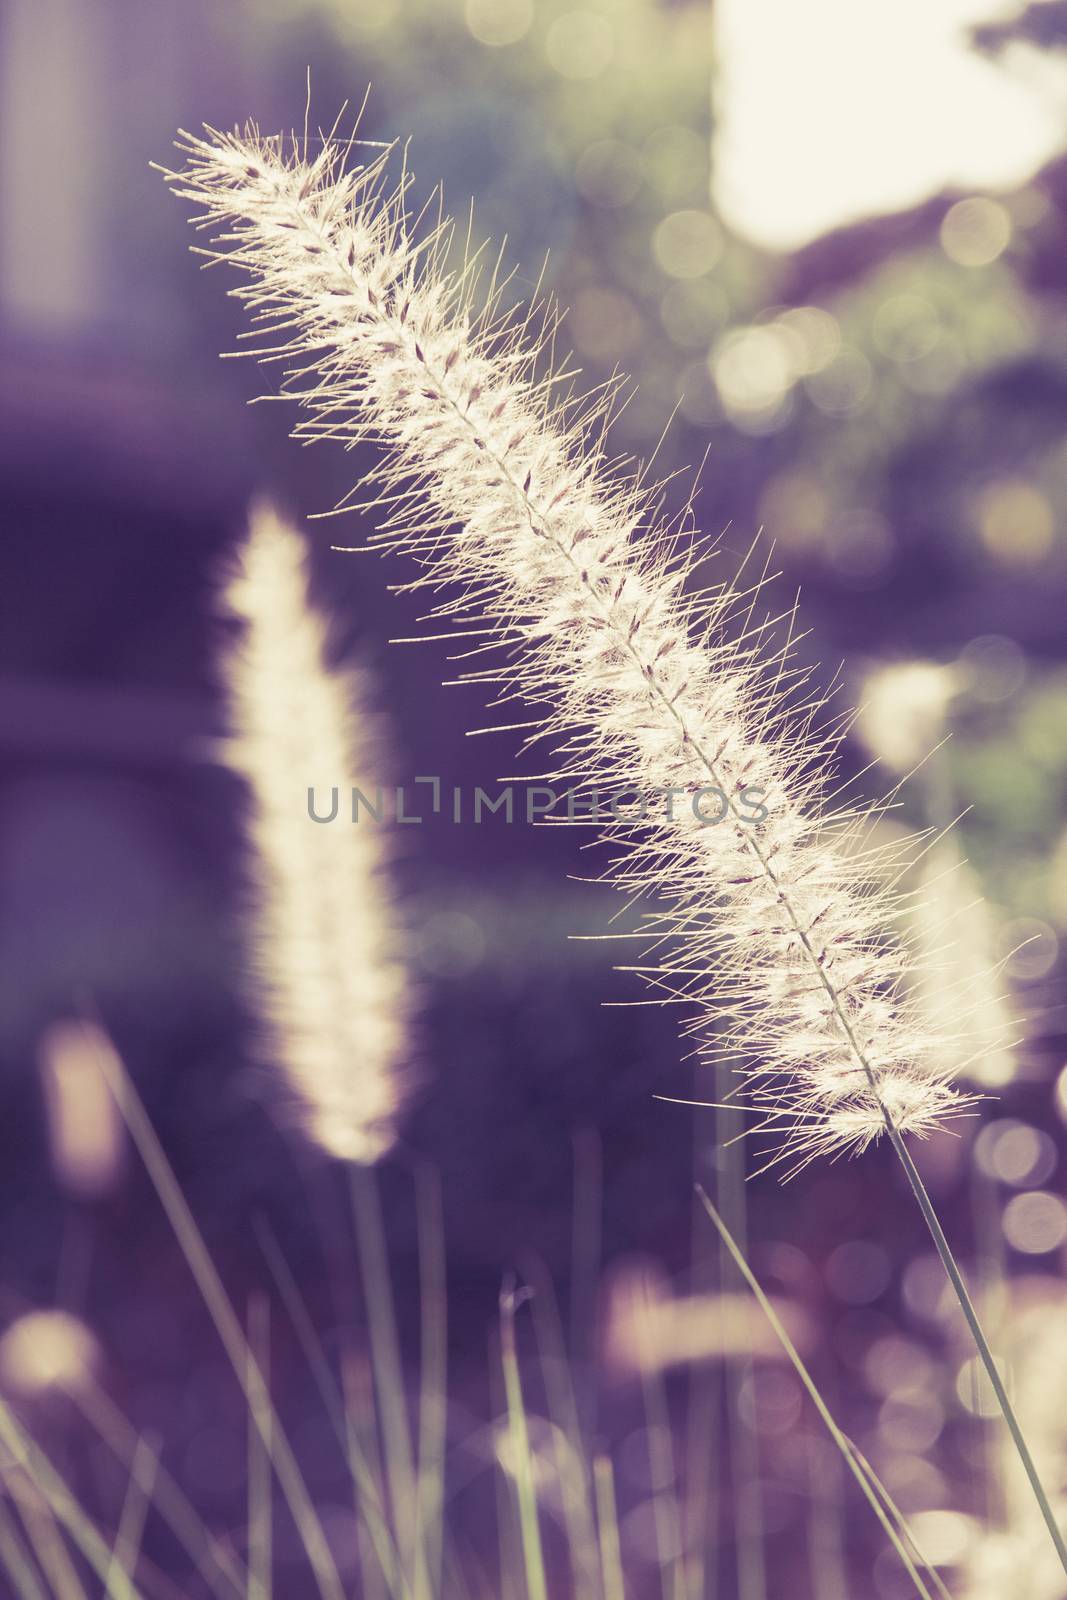
{"type": "Polygon", "coordinates": [[[397,1134],[410,1050],[387,835],[314,822],[307,790],[373,789],[379,722],[363,677],[331,667],[304,539],[269,506],[253,510],[224,602],[243,624],[224,661],[226,760],[250,792],[246,939],[266,1053],[310,1139],[374,1162],[397,1134]]]}

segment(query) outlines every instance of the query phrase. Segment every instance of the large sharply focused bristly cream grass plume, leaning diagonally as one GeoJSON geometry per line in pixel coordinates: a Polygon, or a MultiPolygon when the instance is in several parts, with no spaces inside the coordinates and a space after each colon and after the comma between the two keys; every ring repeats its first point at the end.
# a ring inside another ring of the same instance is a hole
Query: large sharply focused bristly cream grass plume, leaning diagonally
{"type": "Polygon", "coordinates": [[[960,1094],[907,997],[896,896],[854,845],[865,818],[827,808],[837,742],[785,693],[758,582],[686,590],[694,542],[608,461],[611,397],[569,398],[552,315],[486,304],[477,264],[448,270],[448,224],[413,238],[386,155],[346,168],[336,142],[306,158],[251,126],[181,147],[168,178],[296,370],[298,434],[381,446],[376,546],[453,586],[440,614],[478,650],[506,648],[501,698],[561,747],[549,776],[670,792],[605,827],[617,882],[654,902],[641,971],[689,1006],[697,1048],[742,1054],[773,1158],[936,1128],[960,1094]]]}

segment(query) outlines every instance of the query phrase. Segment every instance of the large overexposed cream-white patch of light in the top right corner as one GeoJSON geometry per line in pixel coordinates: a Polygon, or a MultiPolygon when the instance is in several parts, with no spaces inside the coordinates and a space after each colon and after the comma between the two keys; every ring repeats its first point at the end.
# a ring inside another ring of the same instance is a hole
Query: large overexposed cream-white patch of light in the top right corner
{"type": "MultiPolygon", "coordinates": [[[[1054,5],[1056,0],[1046,0],[1054,5]]],[[[713,192],[753,243],[795,250],[944,189],[1024,182],[1067,131],[1067,62],[989,59],[989,0],[717,0],[713,192]]]]}

